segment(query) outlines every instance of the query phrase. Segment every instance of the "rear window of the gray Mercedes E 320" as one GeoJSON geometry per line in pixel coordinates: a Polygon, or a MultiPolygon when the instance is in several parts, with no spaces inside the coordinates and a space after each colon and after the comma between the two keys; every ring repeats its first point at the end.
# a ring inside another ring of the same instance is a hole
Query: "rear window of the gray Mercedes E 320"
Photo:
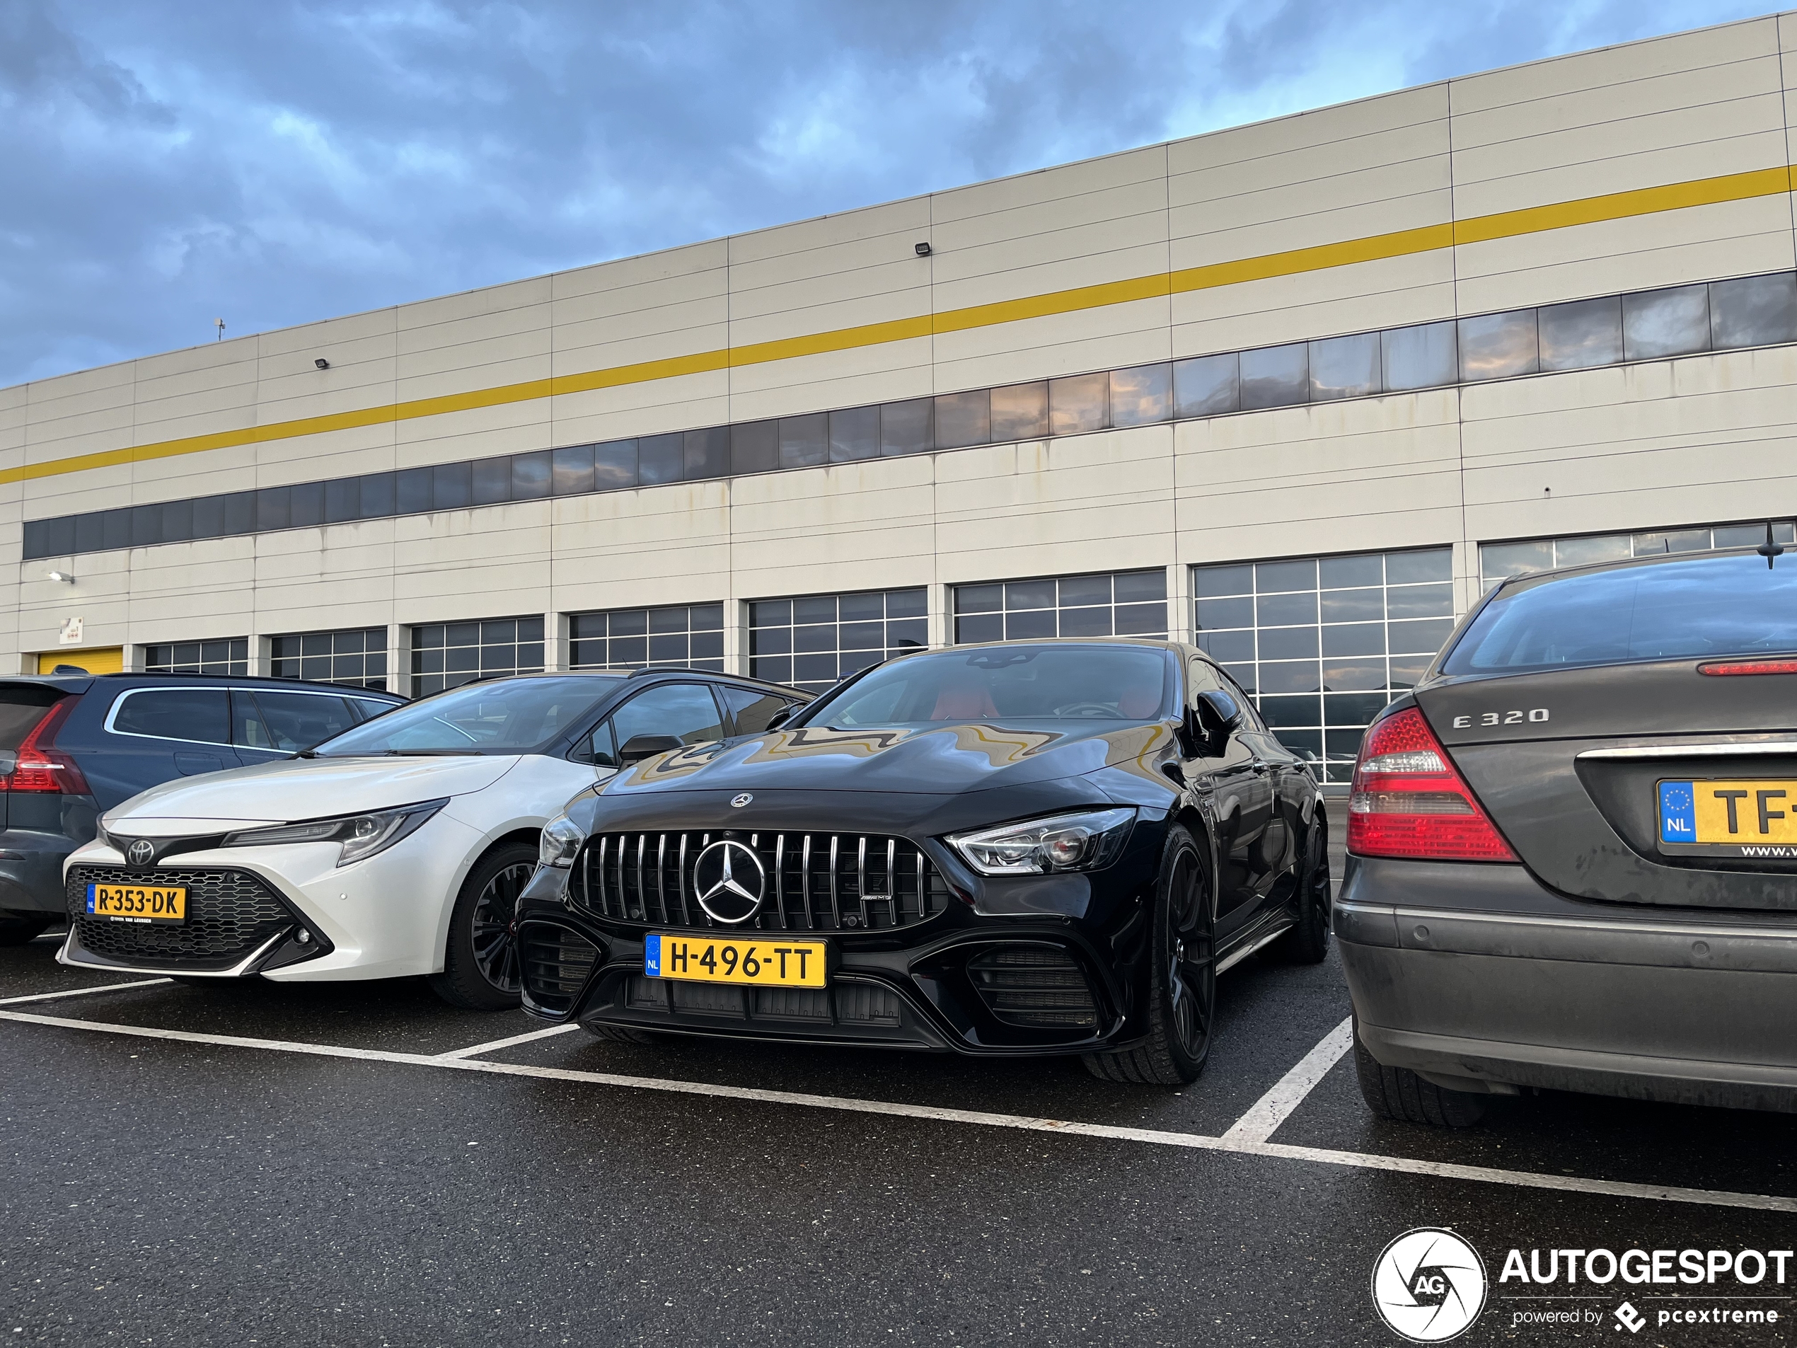
{"type": "Polygon", "coordinates": [[[1506,584],[1443,674],[1797,651],[1797,557],[1709,555],[1506,584]]]}

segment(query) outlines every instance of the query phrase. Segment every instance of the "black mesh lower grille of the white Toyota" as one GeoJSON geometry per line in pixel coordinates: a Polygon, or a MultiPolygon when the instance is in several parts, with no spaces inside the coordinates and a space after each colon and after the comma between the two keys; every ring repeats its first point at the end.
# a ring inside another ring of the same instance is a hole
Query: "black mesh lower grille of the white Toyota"
{"type": "MultiPolygon", "coordinates": [[[[111,963],[169,969],[230,969],[275,936],[302,926],[298,915],[259,875],[199,866],[158,866],[151,874],[119,866],[74,866],[68,872],[68,911],[75,915],[74,931],[81,949],[111,963]],[[90,884],[185,884],[187,920],[160,924],[84,917],[90,884]]],[[[316,938],[307,944],[318,945],[320,953],[323,949],[316,938]]]]}

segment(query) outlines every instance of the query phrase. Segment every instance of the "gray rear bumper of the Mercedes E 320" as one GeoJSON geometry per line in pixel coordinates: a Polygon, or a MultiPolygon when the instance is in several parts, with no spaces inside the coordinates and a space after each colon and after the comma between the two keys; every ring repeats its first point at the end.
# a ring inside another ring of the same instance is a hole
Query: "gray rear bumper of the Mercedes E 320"
{"type": "Polygon", "coordinates": [[[1368,1051],[1443,1086],[1797,1113],[1797,918],[1563,899],[1522,866],[1350,857],[1368,1051]]]}

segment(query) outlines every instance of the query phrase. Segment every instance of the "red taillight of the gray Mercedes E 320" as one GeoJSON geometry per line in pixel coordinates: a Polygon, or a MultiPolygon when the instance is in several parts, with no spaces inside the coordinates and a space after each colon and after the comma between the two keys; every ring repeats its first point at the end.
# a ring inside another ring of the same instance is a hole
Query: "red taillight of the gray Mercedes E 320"
{"type": "Polygon", "coordinates": [[[1348,850],[1364,857],[1517,859],[1414,706],[1366,732],[1348,800],[1348,850]]]}

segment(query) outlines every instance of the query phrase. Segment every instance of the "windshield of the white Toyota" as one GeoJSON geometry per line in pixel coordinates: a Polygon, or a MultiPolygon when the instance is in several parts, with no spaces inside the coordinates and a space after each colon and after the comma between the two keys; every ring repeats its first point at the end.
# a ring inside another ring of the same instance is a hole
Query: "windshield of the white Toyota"
{"type": "Polygon", "coordinates": [[[616,678],[591,674],[467,683],[327,739],[316,753],[521,753],[568,730],[616,687],[616,678]]]}

